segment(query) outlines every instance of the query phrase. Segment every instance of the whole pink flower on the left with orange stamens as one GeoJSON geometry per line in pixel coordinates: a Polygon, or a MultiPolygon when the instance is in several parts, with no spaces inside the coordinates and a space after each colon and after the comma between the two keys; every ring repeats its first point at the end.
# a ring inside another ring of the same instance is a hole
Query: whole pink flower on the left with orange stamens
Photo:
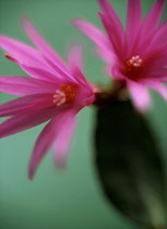
{"type": "Polygon", "coordinates": [[[24,29],[38,48],[10,37],[0,36],[5,57],[16,62],[28,76],[0,76],[0,91],[21,96],[0,105],[0,117],[10,117],[0,124],[0,137],[48,122],[39,134],[29,161],[32,179],[46,152],[53,146],[58,165],[63,165],[72,136],[76,113],[94,99],[93,86],[82,73],[82,49],[69,51],[68,65],[41,38],[28,20],[24,29]]]}

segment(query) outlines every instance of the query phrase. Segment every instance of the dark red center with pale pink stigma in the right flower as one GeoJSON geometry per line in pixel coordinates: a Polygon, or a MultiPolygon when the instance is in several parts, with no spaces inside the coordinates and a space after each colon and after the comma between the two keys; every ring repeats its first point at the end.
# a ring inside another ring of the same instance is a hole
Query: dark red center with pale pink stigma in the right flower
{"type": "Polygon", "coordinates": [[[143,69],[143,60],[140,56],[133,56],[131,59],[126,61],[127,71],[130,75],[136,75],[143,69]]]}

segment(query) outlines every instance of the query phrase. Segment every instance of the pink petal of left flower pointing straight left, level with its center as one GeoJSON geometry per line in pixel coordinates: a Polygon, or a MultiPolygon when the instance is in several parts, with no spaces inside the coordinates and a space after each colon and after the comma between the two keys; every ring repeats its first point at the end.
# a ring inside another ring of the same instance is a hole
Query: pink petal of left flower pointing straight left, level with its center
{"type": "Polygon", "coordinates": [[[0,76],[0,92],[16,96],[53,93],[58,85],[27,76],[0,76]]]}

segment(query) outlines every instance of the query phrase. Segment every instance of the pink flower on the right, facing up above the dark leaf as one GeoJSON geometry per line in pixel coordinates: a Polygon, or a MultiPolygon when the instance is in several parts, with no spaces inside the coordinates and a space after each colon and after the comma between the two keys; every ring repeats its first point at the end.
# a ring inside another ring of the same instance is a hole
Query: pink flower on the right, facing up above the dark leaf
{"type": "Polygon", "coordinates": [[[103,10],[103,34],[88,22],[74,20],[75,25],[97,46],[97,53],[107,62],[107,71],[116,80],[126,82],[134,106],[145,111],[151,104],[147,87],[167,100],[167,21],[159,25],[165,0],[156,0],[142,20],[140,0],[128,1],[127,27],[107,0],[98,0],[103,10]]]}

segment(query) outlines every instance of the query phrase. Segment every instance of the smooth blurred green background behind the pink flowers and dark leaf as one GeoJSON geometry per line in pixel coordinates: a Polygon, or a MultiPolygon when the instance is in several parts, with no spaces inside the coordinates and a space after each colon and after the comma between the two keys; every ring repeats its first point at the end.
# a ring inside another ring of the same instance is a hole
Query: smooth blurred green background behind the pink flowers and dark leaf
{"type": "MultiPolygon", "coordinates": [[[[110,2],[124,22],[127,1],[110,2]]],[[[144,14],[153,2],[142,1],[144,14]]],[[[98,11],[96,0],[1,0],[0,33],[31,44],[20,25],[21,19],[28,15],[63,58],[71,44],[84,44],[86,77],[107,83],[103,61],[94,56],[94,46],[70,25],[72,19],[83,17],[102,28],[98,11]]],[[[167,9],[164,19],[166,15],[167,9]]],[[[0,50],[1,75],[26,75],[2,55],[0,50]]],[[[156,93],[152,92],[152,96],[154,107],[147,119],[157,133],[164,166],[167,166],[167,107],[156,93]]],[[[12,98],[0,93],[1,104],[12,98]]],[[[107,203],[100,190],[94,167],[94,117],[91,108],[79,114],[67,169],[55,168],[49,152],[33,181],[27,179],[27,164],[44,125],[0,141],[1,229],[138,229],[107,203]]]]}

